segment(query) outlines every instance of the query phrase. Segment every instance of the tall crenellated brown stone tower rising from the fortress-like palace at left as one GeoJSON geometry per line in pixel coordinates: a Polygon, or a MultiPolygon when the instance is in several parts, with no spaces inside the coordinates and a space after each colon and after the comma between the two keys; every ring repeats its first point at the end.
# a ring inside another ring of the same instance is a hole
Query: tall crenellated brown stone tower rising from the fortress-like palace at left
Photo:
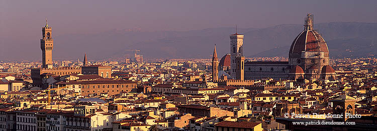
{"type": "Polygon", "coordinates": [[[54,40],[51,36],[51,27],[46,25],[42,27],[42,39],[41,39],[41,50],[42,50],[42,67],[52,68],[52,49],[54,48],[54,40]]]}

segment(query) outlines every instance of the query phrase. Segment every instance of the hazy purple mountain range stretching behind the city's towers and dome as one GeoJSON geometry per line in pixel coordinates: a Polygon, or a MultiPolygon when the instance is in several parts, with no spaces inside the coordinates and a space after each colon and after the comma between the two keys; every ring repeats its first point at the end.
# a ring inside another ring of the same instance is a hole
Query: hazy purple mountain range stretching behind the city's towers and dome
{"type": "MultiPolygon", "coordinates": [[[[332,22],[314,25],[330,50],[330,57],[377,55],[377,23],[332,22]]],[[[262,29],[238,29],[244,36],[244,55],[285,56],[303,25],[278,25],[262,29]]],[[[111,30],[96,34],[68,34],[54,37],[53,59],[89,60],[132,57],[132,49],[144,58],[211,58],[216,44],[221,58],[230,52],[229,35],[234,28],[211,28],[184,32],[111,30]],[[72,48],[74,47],[74,48],[72,48]]],[[[38,45],[38,44],[36,44],[38,45]]],[[[34,45],[33,45],[34,46],[34,45]]],[[[36,50],[40,52],[40,50],[36,50]]]]}

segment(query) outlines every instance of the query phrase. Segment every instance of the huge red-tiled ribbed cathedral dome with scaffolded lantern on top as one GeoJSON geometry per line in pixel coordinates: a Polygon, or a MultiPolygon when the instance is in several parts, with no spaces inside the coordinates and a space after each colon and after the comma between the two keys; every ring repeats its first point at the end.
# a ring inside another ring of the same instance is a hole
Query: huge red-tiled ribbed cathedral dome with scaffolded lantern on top
{"type": "Polygon", "coordinates": [[[322,36],[313,29],[313,16],[308,14],[305,19],[304,31],[302,31],[293,41],[290,53],[324,52],[328,54],[327,44],[322,36]]]}

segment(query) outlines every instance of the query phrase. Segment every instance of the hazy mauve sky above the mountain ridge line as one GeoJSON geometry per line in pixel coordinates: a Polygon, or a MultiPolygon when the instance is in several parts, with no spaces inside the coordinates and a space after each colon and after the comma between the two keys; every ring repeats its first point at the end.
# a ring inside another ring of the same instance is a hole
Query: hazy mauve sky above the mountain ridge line
{"type": "MultiPolygon", "coordinates": [[[[53,36],[58,36],[129,28],[187,31],[236,24],[240,28],[264,28],[302,24],[307,13],[314,14],[315,23],[376,23],[377,1],[0,0],[0,45],[14,44],[10,40],[34,44],[30,40],[39,41],[46,18],[53,36]]],[[[7,57],[0,55],[0,59],[7,57]]]]}

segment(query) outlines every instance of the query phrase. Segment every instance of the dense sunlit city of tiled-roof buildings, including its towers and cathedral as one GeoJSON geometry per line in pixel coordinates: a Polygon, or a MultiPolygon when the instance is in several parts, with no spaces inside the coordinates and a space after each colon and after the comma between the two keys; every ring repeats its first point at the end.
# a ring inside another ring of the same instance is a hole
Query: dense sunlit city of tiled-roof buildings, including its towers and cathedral
{"type": "Polygon", "coordinates": [[[220,60],[53,61],[51,31],[42,61],[0,63],[0,130],[377,130],[377,59],[330,59],[312,14],[288,57],[246,57],[236,31],[220,60]]]}

